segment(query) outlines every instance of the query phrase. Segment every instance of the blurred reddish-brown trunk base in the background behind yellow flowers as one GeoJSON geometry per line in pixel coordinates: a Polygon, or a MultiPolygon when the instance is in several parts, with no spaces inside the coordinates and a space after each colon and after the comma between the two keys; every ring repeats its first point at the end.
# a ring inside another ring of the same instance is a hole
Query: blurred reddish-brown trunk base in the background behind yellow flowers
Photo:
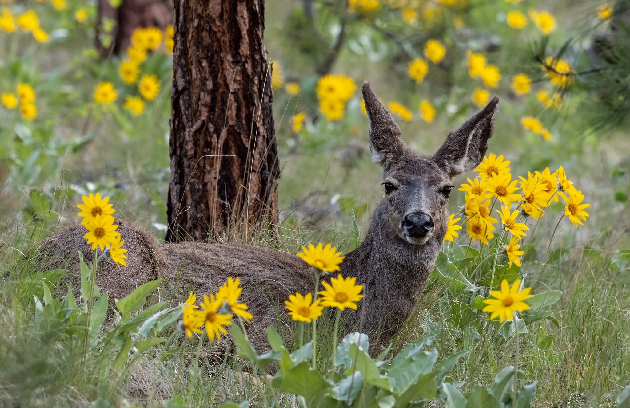
{"type": "Polygon", "coordinates": [[[157,27],[164,30],[172,22],[171,0],[122,0],[118,8],[113,8],[110,0],[98,0],[96,48],[103,58],[123,54],[136,28],[157,27]],[[106,30],[105,19],[116,22],[111,31],[106,30]]]}

